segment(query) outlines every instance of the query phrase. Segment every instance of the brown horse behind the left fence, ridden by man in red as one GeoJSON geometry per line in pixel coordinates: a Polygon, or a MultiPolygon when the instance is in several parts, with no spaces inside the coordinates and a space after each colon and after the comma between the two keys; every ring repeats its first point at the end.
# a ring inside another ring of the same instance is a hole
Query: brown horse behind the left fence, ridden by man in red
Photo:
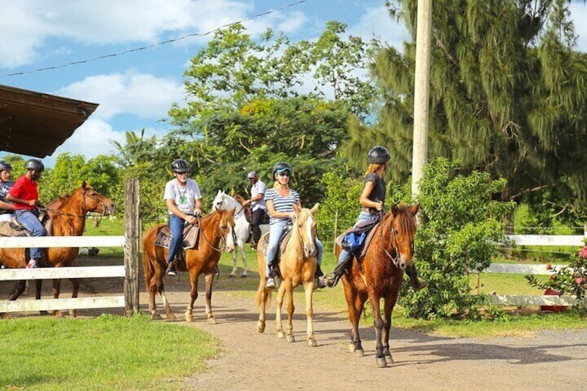
{"type": "MultiPolygon", "coordinates": [[[[59,197],[51,201],[46,206],[49,217],[51,217],[51,236],[80,236],[84,233],[86,225],[87,212],[98,212],[102,215],[110,215],[114,212],[114,201],[93,190],[93,188],[82,182],[80,188],[76,189],[71,195],[59,197]]],[[[72,266],[75,258],[78,257],[80,249],[78,247],[51,247],[44,248],[44,262],[39,266],[64,267],[72,266]]],[[[26,258],[24,248],[0,248],[0,262],[7,268],[24,268],[26,258]]],[[[80,290],[80,281],[70,279],[73,284],[72,298],[78,297],[80,290]]],[[[36,280],[36,298],[41,298],[42,280],[36,280]]],[[[25,281],[17,282],[15,293],[10,296],[9,300],[16,300],[25,289],[25,281]]],[[[53,280],[53,298],[59,298],[61,290],[61,280],[53,280]]],[[[69,311],[71,316],[75,316],[75,310],[69,311]]],[[[55,311],[59,316],[60,311],[55,311]]]]}

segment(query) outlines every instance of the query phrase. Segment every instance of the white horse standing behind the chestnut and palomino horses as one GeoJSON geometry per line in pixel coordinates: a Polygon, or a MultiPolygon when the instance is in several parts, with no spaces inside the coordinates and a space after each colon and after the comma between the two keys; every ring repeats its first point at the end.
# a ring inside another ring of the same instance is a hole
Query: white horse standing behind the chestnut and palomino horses
{"type": "MultiPolygon", "coordinates": [[[[220,210],[231,210],[235,209],[235,228],[234,233],[236,235],[236,244],[240,248],[240,254],[242,257],[242,263],[244,264],[244,271],[240,275],[241,277],[246,277],[247,273],[249,273],[249,265],[246,263],[246,255],[244,253],[244,246],[247,243],[247,239],[249,239],[249,231],[251,228],[251,224],[249,221],[246,221],[246,217],[244,215],[244,207],[241,205],[239,201],[234,199],[233,197],[229,196],[222,190],[218,190],[216,197],[214,198],[212,210],[220,209],[220,210]]],[[[269,224],[262,224],[261,228],[261,235],[269,232],[269,224]]],[[[235,277],[237,273],[237,252],[233,252],[233,271],[228,275],[228,277],[235,277]]]]}

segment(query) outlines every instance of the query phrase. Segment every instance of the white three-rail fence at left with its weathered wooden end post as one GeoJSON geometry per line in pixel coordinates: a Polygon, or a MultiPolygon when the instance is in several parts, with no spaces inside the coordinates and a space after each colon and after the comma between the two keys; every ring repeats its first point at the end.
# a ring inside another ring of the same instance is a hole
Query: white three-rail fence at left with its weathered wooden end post
{"type": "Polygon", "coordinates": [[[54,278],[108,278],[121,277],[123,295],[91,298],[60,298],[44,300],[0,300],[0,313],[20,311],[51,311],[55,309],[95,309],[124,307],[125,315],[138,313],[138,181],[125,183],[124,236],[53,236],[0,237],[0,247],[124,247],[125,264],[120,266],[87,266],[68,268],[0,269],[3,280],[45,280],[54,278]]]}

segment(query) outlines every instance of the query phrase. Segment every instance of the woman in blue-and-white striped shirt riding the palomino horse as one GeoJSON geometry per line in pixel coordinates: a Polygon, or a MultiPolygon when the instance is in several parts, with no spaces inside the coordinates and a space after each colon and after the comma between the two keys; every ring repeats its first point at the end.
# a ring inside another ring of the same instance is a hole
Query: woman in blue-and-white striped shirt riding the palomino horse
{"type": "MultiPolygon", "coordinates": [[[[296,217],[293,211],[293,204],[296,204],[298,208],[302,208],[300,203],[300,196],[296,190],[289,188],[289,178],[293,169],[291,165],[286,162],[279,162],[273,166],[271,173],[273,174],[273,188],[268,189],[265,192],[265,203],[267,205],[267,212],[271,219],[269,220],[269,246],[267,247],[267,255],[265,261],[267,262],[267,282],[265,288],[274,289],[276,287],[275,282],[275,270],[276,270],[276,255],[279,251],[279,241],[283,233],[283,229],[287,224],[291,224],[292,219],[296,217]]],[[[316,278],[318,278],[318,287],[325,287],[325,282],[321,279],[323,275],[320,270],[320,264],[322,263],[323,244],[316,239],[316,260],[318,266],[316,266],[316,278]]]]}

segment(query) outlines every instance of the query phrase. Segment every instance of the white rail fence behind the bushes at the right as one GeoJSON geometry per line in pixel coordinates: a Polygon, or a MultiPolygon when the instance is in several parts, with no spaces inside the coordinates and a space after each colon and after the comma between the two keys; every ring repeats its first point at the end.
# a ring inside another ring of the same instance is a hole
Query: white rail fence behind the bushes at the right
{"type": "MultiPolygon", "coordinates": [[[[584,246],[583,235],[508,235],[518,246],[584,246]]],[[[557,268],[566,265],[550,265],[557,268]]],[[[552,275],[554,271],[546,264],[490,264],[480,273],[552,275]]],[[[477,280],[480,287],[480,275],[477,280]]],[[[491,302],[497,305],[562,305],[577,304],[577,299],[557,295],[491,295],[491,302]]]]}

